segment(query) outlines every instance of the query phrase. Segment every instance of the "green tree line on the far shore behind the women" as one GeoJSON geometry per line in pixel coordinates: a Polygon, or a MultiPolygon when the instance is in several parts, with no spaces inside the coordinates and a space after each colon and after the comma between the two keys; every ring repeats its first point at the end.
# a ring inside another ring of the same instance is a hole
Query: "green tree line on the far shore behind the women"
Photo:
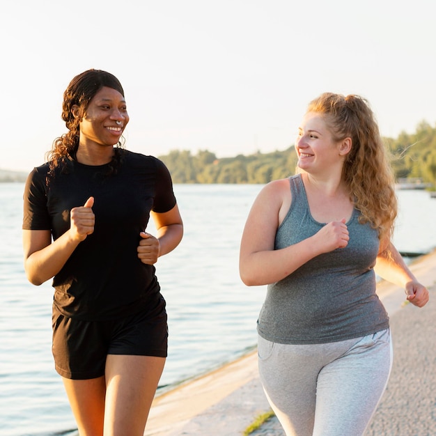
{"type": "MultiPolygon", "coordinates": [[[[420,178],[436,185],[436,127],[422,121],[416,132],[402,132],[397,139],[384,138],[396,178],[420,178]]],[[[272,153],[254,153],[217,158],[209,150],[193,155],[189,150],[171,150],[159,156],[174,183],[260,183],[285,178],[297,166],[294,147],[272,153]]]]}

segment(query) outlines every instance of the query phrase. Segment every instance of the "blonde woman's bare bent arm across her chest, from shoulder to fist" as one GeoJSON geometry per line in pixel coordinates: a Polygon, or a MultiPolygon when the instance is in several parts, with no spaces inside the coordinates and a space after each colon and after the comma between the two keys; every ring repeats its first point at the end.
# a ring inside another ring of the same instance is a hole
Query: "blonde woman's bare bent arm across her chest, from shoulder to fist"
{"type": "Polygon", "coordinates": [[[289,180],[276,180],[259,193],[249,212],[240,247],[240,277],[247,286],[284,279],[308,260],[348,244],[343,221],[334,221],[297,244],[274,250],[277,228],[290,207],[289,180]]]}

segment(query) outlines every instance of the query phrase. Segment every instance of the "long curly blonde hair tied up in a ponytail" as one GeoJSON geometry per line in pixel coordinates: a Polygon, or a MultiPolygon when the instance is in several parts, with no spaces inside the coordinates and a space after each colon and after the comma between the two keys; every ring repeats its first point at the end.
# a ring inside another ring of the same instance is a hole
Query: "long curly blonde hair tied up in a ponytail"
{"type": "Polygon", "coordinates": [[[335,141],[351,138],[342,178],[361,212],[359,222],[371,223],[380,241],[389,242],[397,215],[394,174],[368,101],[359,95],[323,93],[307,111],[322,115],[335,141]]]}

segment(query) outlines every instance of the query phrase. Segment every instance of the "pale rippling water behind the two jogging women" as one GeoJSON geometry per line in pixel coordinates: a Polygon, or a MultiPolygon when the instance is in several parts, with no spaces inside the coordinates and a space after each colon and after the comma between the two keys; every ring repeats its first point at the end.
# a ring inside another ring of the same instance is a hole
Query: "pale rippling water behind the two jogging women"
{"type": "MultiPolygon", "coordinates": [[[[75,421],[54,371],[50,283],[32,286],[22,267],[24,185],[0,183],[0,435],[68,433],[75,421]]],[[[160,389],[235,359],[256,344],[264,287],[238,274],[244,221],[260,185],[176,185],[185,236],[159,259],[169,314],[169,358],[160,389]]],[[[399,191],[400,251],[436,247],[436,199],[399,191]]],[[[153,232],[153,229],[149,229],[153,232]]]]}

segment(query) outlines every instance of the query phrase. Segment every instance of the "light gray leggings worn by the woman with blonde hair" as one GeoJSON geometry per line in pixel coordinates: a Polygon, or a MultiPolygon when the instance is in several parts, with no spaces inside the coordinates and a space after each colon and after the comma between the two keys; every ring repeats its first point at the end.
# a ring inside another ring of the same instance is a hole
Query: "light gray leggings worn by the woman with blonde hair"
{"type": "Polygon", "coordinates": [[[387,386],[391,333],[316,345],[258,336],[258,363],[286,436],[361,436],[387,386]]]}

